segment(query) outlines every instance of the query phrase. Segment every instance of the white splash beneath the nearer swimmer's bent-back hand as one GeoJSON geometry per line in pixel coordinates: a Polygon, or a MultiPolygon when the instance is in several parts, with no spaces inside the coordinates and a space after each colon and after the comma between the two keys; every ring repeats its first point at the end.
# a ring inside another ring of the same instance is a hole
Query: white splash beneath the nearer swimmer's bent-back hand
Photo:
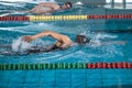
{"type": "Polygon", "coordinates": [[[14,40],[12,43],[12,51],[13,52],[25,52],[26,50],[31,48],[32,44],[22,41],[22,37],[14,40]]]}

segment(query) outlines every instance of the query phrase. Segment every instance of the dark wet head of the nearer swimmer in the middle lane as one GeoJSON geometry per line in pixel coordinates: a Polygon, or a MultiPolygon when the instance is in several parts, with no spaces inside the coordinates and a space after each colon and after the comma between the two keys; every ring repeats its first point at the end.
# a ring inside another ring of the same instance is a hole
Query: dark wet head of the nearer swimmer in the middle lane
{"type": "Polygon", "coordinates": [[[86,44],[89,43],[90,40],[85,35],[76,35],[75,42],[78,44],[86,44]]]}

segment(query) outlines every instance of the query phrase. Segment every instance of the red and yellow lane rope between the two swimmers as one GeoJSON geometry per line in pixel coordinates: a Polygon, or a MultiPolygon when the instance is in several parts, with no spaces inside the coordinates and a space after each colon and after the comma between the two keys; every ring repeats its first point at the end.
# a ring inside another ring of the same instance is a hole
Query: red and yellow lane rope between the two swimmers
{"type": "Polygon", "coordinates": [[[69,21],[88,19],[132,19],[132,14],[105,14],[105,15],[18,15],[0,16],[0,21],[69,21]]]}

